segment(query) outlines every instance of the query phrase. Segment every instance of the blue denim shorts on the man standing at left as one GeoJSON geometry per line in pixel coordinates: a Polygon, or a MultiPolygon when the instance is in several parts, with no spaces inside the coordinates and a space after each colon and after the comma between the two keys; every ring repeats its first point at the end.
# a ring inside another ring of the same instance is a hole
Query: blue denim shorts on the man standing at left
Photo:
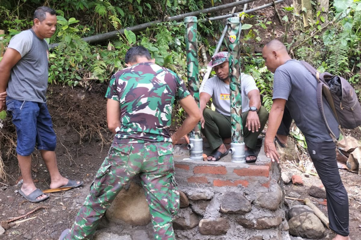
{"type": "Polygon", "coordinates": [[[29,156],[35,149],[54,151],[56,135],[45,103],[20,101],[6,97],[7,110],[12,115],[16,127],[16,152],[29,156]]]}

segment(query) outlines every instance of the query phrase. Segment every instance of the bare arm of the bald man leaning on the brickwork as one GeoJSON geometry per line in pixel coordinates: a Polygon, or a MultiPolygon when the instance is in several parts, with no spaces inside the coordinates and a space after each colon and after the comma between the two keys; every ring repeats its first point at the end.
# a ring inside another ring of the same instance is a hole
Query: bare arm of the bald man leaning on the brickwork
{"type": "Polygon", "coordinates": [[[279,154],[276,150],[276,146],[274,145],[274,137],[277,134],[279,125],[281,124],[285,105],[285,99],[274,99],[268,118],[268,127],[265,137],[265,153],[268,158],[272,159],[272,162],[274,162],[274,160],[279,162],[279,154]]]}

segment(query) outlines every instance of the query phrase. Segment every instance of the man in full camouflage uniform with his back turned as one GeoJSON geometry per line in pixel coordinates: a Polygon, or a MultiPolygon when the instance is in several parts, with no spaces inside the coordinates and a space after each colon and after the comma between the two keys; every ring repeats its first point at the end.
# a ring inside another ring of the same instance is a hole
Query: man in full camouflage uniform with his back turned
{"type": "Polygon", "coordinates": [[[201,113],[181,78],[154,64],[147,49],[131,47],[125,62],[127,68],[112,76],[105,95],[108,127],[116,133],[113,144],[73,226],[62,233],[61,240],[90,239],[106,209],[138,173],[154,238],[175,239],[171,222],[179,210],[179,192],[174,181],[172,143],[193,129],[201,113]],[[170,136],[175,99],[188,117],[170,136]]]}

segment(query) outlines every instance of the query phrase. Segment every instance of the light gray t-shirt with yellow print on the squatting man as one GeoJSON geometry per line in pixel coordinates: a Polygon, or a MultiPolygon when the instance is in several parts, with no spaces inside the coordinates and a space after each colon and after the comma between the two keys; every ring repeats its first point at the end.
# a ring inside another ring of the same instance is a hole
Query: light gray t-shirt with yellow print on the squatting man
{"type": "MultiPolygon", "coordinates": [[[[246,112],[249,110],[248,92],[258,90],[258,88],[253,77],[244,73],[241,73],[241,88],[242,112],[246,112]]],[[[216,112],[231,116],[229,85],[220,80],[219,77],[214,76],[206,81],[201,92],[206,92],[212,96],[212,103],[216,108],[216,112]]]]}

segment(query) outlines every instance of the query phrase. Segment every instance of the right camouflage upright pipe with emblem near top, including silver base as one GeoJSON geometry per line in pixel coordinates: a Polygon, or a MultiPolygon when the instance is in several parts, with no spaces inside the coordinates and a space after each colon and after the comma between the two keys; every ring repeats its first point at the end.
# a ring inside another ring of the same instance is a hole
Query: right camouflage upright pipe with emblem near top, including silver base
{"type": "Polygon", "coordinates": [[[245,154],[242,126],[242,90],[239,46],[241,23],[239,17],[227,18],[227,26],[232,134],[230,153],[232,154],[232,162],[243,162],[245,160],[245,154]]]}

